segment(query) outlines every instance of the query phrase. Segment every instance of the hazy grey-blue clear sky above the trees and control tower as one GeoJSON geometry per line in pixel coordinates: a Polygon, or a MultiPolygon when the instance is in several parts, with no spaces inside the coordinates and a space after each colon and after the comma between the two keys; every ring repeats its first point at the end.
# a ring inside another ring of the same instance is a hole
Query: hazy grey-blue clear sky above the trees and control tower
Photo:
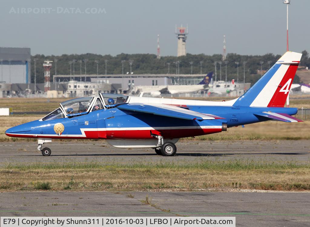
{"type": "MultiPolygon", "coordinates": [[[[310,50],[309,10],[309,0],[291,0],[290,50],[310,50]]],[[[227,53],[286,51],[282,0],[7,0],[0,20],[0,46],[32,55],[156,54],[157,34],[161,55],[176,55],[175,24],[188,24],[191,54],[221,54],[224,34],[227,53]]]]}

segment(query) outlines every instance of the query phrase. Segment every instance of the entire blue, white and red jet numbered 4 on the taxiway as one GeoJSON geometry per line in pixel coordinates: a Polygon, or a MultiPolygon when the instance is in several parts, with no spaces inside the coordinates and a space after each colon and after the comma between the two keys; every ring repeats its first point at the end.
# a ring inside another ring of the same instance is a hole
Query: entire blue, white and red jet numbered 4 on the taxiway
{"type": "Polygon", "coordinates": [[[74,98],[55,111],[7,129],[9,137],[38,138],[38,150],[52,139],[105,139],[119,148],[153,148],[176,154],[179,138],[226,131],[267,120],[299,122],[297,108],[285,108],[301,54],[288,51],[241,97],[226,102],[148,98],[121,94],[74,98]]]}

